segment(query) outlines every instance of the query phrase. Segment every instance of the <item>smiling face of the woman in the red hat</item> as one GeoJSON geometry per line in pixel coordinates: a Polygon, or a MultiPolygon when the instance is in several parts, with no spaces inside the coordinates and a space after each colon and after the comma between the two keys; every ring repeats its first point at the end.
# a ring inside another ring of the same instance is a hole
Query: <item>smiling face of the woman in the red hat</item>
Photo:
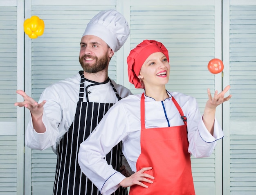
{"type": "Polygon", "coordinates": [[[139,77],[142,79],[145,88],[147,86],[162,86],[168,83],[170,64],[162,52],[150,54],[142,65],[139,77]]]}

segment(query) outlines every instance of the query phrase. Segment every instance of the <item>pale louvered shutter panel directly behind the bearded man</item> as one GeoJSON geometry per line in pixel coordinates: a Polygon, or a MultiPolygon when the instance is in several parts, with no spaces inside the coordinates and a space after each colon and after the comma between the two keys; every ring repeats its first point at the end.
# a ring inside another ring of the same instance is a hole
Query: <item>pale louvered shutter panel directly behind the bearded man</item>
{"type": "MultiPolygon", "coordinates": [[[[86,25],[99,11],[116,7],[113,0],[32,0],[27,8],[31,9],[31,15],[25,15],[27,18],[36,15],[45,22],[44,34],[31,40],[31,65],[26,64],[27,74],[31,74],[31,96],[38,101],[47,86],[73,76],[82,69],[79,51],[86,25]]],[[[26,55],[29,56],[30,52],[26,55]]],[[[113,80],[117,78],[117,55],[112,57],[109,66],[109,77],[113,80]]],[[[31,171],[32,194],[52,194],[56,170],[56,155],[52,149],[32,150],[31,161],[27,166],[31,171]]],[[[25,186],[27,194],[31,193],[31,187],[25,186]]]]}

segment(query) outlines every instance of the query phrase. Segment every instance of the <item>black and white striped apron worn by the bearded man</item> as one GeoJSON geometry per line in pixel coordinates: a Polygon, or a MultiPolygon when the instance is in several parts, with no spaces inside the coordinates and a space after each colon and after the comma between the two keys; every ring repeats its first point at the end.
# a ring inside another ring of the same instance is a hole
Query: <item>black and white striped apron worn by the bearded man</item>
{"type": "MultiPolygon", "coordinates": [[[[92,130],[114,103],[83,102],[85,77],[83,71],[79,73],[81,75],[81,83],[75,118],[57,147],[58,159],[53,195],[100,194],[97,187],[81,172],[77,162],[77,155],[80,143],[91,134],[92,130]]],[[[110,84],[118,100],[120,100],[121,98],[111,81],[110,84]]],[[[120,142],[105,157],[108,164],[111,164],[117,171],[121,166],[121,150],[122,143],[120,142]]],[[[127,188],[120,187],[112,195],[128,195],[127,188]]]]}

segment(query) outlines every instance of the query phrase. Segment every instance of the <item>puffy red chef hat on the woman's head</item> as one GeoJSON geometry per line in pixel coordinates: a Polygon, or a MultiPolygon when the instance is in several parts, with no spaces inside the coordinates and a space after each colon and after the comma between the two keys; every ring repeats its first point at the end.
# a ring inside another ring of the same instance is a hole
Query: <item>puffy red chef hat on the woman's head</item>
{"type": "Polygon", "coordinates": [[[168,50],[162,43],[156,40],[144,40],[130,51],[127,57],[128,76],[130,83],[132,83],[135,88],[143,88],[138,78],[140,69],[148,56],[156,52],[162,52],[169,62],[168,50]]]}

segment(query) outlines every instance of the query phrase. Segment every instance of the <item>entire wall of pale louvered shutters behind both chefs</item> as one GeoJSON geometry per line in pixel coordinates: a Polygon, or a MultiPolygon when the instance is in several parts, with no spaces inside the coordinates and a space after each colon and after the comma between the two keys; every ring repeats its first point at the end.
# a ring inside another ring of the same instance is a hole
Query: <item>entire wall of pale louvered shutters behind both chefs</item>
{"type": "MultiPolygon", "coordinates": [[[[23,186],[23,129],[29,112],[15,108],[22,101],[16,89],[24,88],[38,100],[43,89],[72,76],[78,62],[81,34],[90,18],[105,9],[124,9],[131,35],[112,58],[109,74],[118,83],[128,82],[126,56],[144,39],[162,41],[170,51],[171,77],[168,90],[198,99],[201,112],[206,88],[221,90],[220,75],[206,67],[213,57],[221,58],[220,36],[223,15],[223,87],[231,85],[230,104],[223,105],[223,195],[255,195],[256,191],[256,2],[253,0],[0,0],[0,194],[52,194],[56,155],[51,149],[25,147],[23,186]],[[23,41],[25,18],[38,15],[45,33],[23,41]],[[230,28],[230,30],[229,30],[230,28]],[[230,43],[230,45],[229,45],[230,43]],[[23,45],[25,44],[25,73],[23,45]],[[230,47],[229,47],[230,46],[230,47]],[[119,66],[119,63],[124,67],[119,66]],[[230,68],[229,68],[230,65],[230,68]],[[123,78],[124,75],[124,78],[123,78]],[[24,79],[25,76],[25,79],[24,79]]],[[[222,113],[217,110],[221,123],[222,113]]],[[[220,141],[221,142],[221,141],[220,141]]],[[[221,143],[209,158],[192,159],[196,194],[222,194],[221,143]],[[215,186],[215,187],[214,187],[215,186]]]]}

